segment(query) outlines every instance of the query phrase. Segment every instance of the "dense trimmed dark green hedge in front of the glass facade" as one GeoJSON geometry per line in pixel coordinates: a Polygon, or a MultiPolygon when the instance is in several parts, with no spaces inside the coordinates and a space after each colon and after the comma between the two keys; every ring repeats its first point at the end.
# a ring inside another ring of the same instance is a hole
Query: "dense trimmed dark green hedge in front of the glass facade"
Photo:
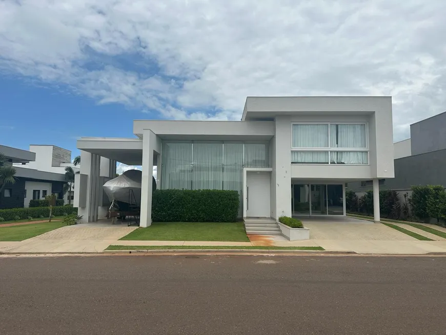
{"type": "Polygon", "coordinates": [[[152,197],[155,222],[234,222],[237,219],[237,191],[155,190],[152,197]]]}

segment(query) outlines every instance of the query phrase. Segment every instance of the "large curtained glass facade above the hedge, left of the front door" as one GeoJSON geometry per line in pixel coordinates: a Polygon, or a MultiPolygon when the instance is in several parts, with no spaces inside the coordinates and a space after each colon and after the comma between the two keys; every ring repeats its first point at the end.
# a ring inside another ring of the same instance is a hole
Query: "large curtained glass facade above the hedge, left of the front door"
{"type": "Polygon", "coordinates": [[[268,143],[164,142],[162,189],[234,190],[243,203],[243,168],[270,167],[268,143]]]}

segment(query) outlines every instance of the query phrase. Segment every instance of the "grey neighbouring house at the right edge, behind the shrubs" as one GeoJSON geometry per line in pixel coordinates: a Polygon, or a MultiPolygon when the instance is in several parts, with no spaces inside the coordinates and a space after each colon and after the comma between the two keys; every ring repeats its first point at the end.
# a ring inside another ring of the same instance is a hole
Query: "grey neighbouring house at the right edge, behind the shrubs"
{"type": "MultiPolygon", "coordinates": [[[[412,185],[443,185],[446,187],[446,112],[416,122],[411,138],[394,144],[395,178],[382,179],[381,189],[410,192],[412,185]]],[[[371,181],[348,184],[355,192],[371,190],[371,181]]]]}

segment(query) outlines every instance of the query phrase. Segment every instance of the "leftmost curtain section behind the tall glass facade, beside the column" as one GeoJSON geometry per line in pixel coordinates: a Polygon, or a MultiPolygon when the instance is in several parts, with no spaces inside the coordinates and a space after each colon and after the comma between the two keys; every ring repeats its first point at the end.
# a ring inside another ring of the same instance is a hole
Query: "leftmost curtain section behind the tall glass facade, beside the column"
{"type": "Polygon", "coordinates": [[[190,189],[192,177],[192,143],[164,143],[162,189],[190,189]]]}

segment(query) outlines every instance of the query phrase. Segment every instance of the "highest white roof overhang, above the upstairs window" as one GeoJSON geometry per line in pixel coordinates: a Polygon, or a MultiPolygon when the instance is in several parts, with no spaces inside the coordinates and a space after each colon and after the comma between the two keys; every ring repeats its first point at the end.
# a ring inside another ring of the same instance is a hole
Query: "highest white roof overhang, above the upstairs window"
{"type": "Polygon", "coordinates": [[[279,115],[372,114],[390,96],[249,96],[241,121],[274,120],[279,115]]]}

